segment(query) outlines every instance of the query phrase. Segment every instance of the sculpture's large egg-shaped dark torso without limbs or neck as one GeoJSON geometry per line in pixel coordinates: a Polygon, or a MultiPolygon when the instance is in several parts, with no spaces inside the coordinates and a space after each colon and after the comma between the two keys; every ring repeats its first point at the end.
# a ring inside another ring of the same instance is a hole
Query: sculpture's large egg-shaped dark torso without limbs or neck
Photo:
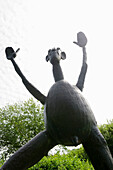
{"type": "Polygon", "coordinates": [[[76,145],[95,125],[92,110],[77,87],[64,80],[51,87],[46,101],[46,128],[58,143],[76,145]]]}

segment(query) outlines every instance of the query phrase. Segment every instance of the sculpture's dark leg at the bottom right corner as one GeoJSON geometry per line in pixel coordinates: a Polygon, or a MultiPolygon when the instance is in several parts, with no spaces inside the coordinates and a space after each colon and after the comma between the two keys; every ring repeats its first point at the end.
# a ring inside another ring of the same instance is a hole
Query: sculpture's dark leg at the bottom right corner
{"type": "Polygon", "coordinates": [[[87,142],[84,142],[83,146],[95,170],[113,170],[113,158],[104,137],[97,127],[92,129],[87,142]]]}

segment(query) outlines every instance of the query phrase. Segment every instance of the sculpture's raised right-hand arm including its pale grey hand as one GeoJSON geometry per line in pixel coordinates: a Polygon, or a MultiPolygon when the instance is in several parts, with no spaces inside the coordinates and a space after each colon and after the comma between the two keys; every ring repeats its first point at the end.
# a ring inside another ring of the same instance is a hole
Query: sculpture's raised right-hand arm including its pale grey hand
{"type": "Polygon", "coordinates": [[[87,38],[85,36],[85,34],[83,32],[79,32],[77,34],[77,42],[74,42],[75,44],[77,44],[79,47],[82,48],[83,50],[83,63],[82,63],[82,67],[81,67],[81,71],[80,71],[80,75],[78,77],[78,81],[76,86],[83,91],[84,88],[84,82],[85,82],[85,76],[86,76],[86,72],[87,72],[87,54],[86,54],[86,44],[87,44],[87,38]]]}

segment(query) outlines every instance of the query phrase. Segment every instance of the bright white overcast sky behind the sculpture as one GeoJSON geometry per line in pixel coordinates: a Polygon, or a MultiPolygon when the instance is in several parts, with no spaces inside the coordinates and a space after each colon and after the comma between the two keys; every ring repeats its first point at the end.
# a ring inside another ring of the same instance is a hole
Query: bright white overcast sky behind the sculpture
{"type": "Polygon", "coordinates": [[[15,61],[26,78],[47,95],[54,84],[52,65],[45,61],[49,49],[66,53],[61,61],[64,78],[76,84],[82,49],[73,41],[82,31],[88,71],[83,95],[98,124],[113,119],[113,10],[112,0],[0,0],[0,107],[32,96],[6,59],[5,48],[20,48],[15,61]]]}

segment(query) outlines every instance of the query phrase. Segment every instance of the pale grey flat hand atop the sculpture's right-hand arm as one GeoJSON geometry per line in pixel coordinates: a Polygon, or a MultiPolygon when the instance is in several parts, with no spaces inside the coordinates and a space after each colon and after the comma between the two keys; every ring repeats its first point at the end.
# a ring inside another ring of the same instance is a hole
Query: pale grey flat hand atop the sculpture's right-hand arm
{"type": "Polygon", "coordinates": [[[83,32],[77,33],[77,42],[73,42],[74,44],[77,44],[79,47],[85,47],[87,44],[87,38],[83,32]]]}

